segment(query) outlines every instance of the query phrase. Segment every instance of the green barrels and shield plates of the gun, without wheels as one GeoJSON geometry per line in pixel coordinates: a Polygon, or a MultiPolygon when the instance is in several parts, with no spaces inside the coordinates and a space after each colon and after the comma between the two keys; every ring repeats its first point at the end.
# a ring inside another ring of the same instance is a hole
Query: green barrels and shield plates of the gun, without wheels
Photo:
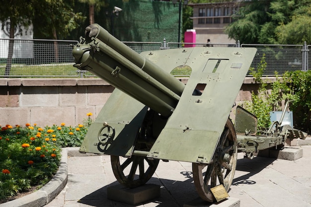
{"type": "Polygon", "coordinates": [[[73,49],[75,66],[119,90],[91,125],[80,151],[131,156],[135,150],[152,158],[209,163],[255,53],[254,48],[195,47],[137,54],[98,25],[89,26],[73,49]],[[186,85],[169,74],[184,65],[192,70],[186,85]],[[150,116],[147,107],[156,115],[150,116]],[[107,145],[97,136],[103,123],[115,129],[107,145]],[[149,152],[136,149],[142,142],[148,142],[149,152]]]}

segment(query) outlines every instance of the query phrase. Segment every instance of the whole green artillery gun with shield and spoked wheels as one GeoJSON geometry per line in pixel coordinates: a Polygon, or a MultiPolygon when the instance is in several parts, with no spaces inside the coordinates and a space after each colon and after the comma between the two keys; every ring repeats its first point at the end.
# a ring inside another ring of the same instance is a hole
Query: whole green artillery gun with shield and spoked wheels
{"type": "Polygon", "coordinates": [[[111,155],[116,179],[129,188],[145,184],[160,159],[192,162],[198,194],[214,202],[210,189],[223,184],[228,191],[237,152],[251,157],[266,143],[263,137],[279,136],[276,145],[288,135],[272,129],[260,138],[250,135],[256,134],[256,118],[238,108],[236,121],[244,124],[237,139],[229,115],[255,53],[254,48],[194,47],[138,54],[98,24],[86,27],[73,48],[74,66],[116,89],[79,151],[111,155]],[[191,68],[186,85],[170,75],[185,65],[191,68]]]}

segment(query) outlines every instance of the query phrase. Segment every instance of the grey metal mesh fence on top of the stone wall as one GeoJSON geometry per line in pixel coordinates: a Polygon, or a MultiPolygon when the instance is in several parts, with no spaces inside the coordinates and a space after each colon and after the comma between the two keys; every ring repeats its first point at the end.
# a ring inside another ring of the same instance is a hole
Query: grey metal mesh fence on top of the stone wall
{"type": "MultiPolygon", "coordinates": [[[[79,71],[73,67],[72,46],[77,41],[61,40],[19,40],[0,39],[0,77],[87,77],[89,72],[79,71]],[[13,41],[11,64],[7,64],[8,48],[13,41]],[[7,67],[10,65],[10,68],[7,67]]],[[[279,75],[285,71],[308,70],[311,55],[309,47],[304,45],[247,45],[207,44],[207,43],[163,43],[155,42],[123,42],[134,51],[140,53],[161,49],[187,47],[255,47],[257,53],[251,64],[255,69],[265,55],[266,76],[279,75]]],[[[311,64],[310,64],[311,65],[311,64]]],[[[249,75],[249,74],[248,74],[249,75]]]]}

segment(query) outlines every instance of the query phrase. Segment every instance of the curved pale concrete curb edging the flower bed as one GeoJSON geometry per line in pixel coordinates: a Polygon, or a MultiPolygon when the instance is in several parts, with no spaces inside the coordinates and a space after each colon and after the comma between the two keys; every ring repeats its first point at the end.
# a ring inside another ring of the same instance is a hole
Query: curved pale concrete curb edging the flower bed
{"type": "Polygon", "coordinates": [[[68,150],[68,148],[62,149],[61,164],[50,182],[38,191],[22,198],[0,204],[0,207],[43,207],[55,199],[67,184],[68,150]]]}

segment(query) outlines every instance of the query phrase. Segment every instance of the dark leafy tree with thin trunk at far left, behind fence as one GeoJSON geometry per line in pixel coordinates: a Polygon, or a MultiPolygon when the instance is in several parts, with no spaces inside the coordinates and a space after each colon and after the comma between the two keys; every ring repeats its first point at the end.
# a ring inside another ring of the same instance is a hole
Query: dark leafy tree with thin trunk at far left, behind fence
{"type": "MultiPolygon", "coordinates": [[[[8,55],[4,72],[5,76],[8,76],[11,70],[15,28],[17,28],[17,26],[24,26],[27,29],[31,24],[31,19],[33,16],[33,0],[2,0],[1,2],[0,21],[5,22],[9,20],[10,22],[10,40],[8,44],[8,55]]],[[[4,24],[2,24],[2,30],[3,26],[4,24]]]]}

